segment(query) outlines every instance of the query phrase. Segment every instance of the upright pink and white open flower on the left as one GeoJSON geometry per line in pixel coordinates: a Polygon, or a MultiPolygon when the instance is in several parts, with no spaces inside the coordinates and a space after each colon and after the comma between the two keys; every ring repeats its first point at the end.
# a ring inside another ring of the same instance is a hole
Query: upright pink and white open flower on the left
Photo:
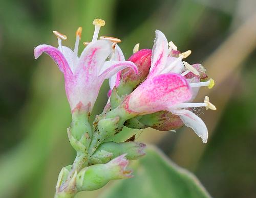
{"type": "MultiPolygon", "coordinates": [[[[58,48],[46,44],[35,47],[35,59],[42,53],[48,54],[64,74],[66,94],[72,113],[92,111],[99,89],[105,79],[126,67],[131,67],[135,73],[138,72],[136,65],[131,61],[125,61],[122,58],[106,61],[112,55],[113,44],[107,39],[97,40],[99,29],[104,26],[104,23],[100,19],[94,20],[95,32],[92,42],[84,48],[80,57],[78,57],[78,46],[81,39],[81,28],[78,28],[76,32],[74,51],[62,45],[61,40],[65,40],[67,37],[56,31],[54,33],[58,37],[58,48]]],[[[119,50],[119,47],[117,49],[119,50]]]]}

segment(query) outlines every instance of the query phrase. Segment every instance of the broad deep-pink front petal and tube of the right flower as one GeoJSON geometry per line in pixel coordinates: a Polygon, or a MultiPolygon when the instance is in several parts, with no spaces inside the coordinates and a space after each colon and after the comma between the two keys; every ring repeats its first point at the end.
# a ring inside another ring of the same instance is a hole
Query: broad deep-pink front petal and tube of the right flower
{"type": "Polygon", "coordinates": [[[168,110],[170,106],[188,101],[192,96],[185,78],[176,73],[166,73],[147,79],[130,95],[123,106],[137,115],[168,110]]]}

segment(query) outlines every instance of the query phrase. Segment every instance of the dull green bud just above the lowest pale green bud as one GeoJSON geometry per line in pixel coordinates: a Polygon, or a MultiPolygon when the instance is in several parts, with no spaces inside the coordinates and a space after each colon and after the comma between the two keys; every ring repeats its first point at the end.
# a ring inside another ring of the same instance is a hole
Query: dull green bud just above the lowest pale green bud
{"type": "Polygon", "coordinates": [[[93,154],[93,157],[101,160],[103,163],[106,163],[117,156],[126,154],[126,158],[129,160],[136,160],[139,157],[145,155],[146,145],[141,142],[105,142],[100,144],[98,149],[93,154]],[[112,154],[106,155],[106,154],[112,154]]]}

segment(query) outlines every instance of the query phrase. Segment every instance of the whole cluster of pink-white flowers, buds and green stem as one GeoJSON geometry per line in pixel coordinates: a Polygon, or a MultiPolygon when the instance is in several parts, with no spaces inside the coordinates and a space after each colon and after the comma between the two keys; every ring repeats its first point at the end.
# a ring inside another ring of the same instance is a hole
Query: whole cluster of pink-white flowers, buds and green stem
{"type": "Polygon", "coordinates": [[[35,58],[48,54],[63,73],[72,113],[68,137],[77,156],[73,165],[62,168],[55,197],[72,197],[78,191],[98,189],[110,180],[131,177],[127,160],[143,156],[145,144],[135,142],[134,137],[125,142],[110,141],[124,126],[174,130],[186,125],[206,143],[205,123],[193,111],[200,107],[216,110],[207,96],[203,103],[191,103],[200,87],[214,86],[214,80],[207,81],[201,64],[182,61],[191,51],[180,53],[156,30],[153,50],[139,50],[136,44],[134,54],[125,61],[117,44],[120,39],[98,39],[105,21],[95,19],[93,24],[92,41],[83,42],[86,46],[80,56],[81,27],[76,31],[74,51],[62,45],[67,36],[57,31],[53,32],[57,48],[42,44],[34,50],[35,58]],[[90,125],[89,116],[105,79],[110,84],[109,100],[90,125]]]}

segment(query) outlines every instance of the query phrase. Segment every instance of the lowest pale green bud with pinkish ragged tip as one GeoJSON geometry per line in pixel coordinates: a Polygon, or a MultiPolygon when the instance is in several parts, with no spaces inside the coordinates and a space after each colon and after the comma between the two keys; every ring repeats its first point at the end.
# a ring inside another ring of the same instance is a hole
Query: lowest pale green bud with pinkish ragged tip
{"type": "Polygon", "coordinates": [[[111,180],[131,178],[132,171],[126,169],[128,163],[124,154],[106,164],[83,168],[76,177],[77,190],[96,190],[111,180]]]}

